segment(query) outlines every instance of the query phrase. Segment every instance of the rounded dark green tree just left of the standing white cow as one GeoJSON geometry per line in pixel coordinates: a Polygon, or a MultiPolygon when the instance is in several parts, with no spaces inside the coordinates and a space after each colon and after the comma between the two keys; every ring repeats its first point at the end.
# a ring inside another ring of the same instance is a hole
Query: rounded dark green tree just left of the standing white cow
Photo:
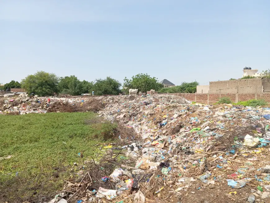
{"type": "Polygon", "coordinates": [[[96,79],[93,86],[95,95],[118,95],[121,83],[111,77],[96,79]]]}

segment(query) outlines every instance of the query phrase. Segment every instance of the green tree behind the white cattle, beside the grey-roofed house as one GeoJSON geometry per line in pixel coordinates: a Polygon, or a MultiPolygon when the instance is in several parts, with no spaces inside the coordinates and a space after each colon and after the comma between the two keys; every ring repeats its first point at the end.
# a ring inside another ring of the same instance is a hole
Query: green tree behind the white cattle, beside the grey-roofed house
{"type": "Polygon", "coordinates": [[[125,77],[124,79],[124,90],[128,89],[138,89],[138,91],[147,92],[149,90],[159,91],[163,85],[160,84],[156,77],[150,77],[150,75],[137,74],[132,76],[132,79],[125,77]]]}

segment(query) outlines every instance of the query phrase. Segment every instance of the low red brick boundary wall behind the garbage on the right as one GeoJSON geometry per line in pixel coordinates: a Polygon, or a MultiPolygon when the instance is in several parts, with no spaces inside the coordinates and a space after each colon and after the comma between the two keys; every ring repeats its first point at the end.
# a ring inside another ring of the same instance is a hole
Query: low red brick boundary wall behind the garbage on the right
{"type": "MultiPolygon", "coordinates": [[[[174,94],[173,94],[174,95],[174,94]]],[[[178,93],[179,96],[187,100],[195,101],[201,104],[214,104],[222,97],[229,97],[233,102],[247,101],[249,99],[264,99],[270,102],[270,93],[227,93],[227,94],[189,94],[178,93]]]]}

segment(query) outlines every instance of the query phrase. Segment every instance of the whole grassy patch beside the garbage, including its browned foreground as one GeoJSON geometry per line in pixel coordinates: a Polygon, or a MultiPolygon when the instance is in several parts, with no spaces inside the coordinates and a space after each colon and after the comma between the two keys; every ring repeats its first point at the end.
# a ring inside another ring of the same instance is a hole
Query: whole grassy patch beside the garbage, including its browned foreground
{"type": "Polygon", "coordinates": [[[55,191],[62,187],[70,171],[79,170],[73,166],[74,162],[83,165],[90,156],[97,157],[100,150],[96,144],[102,141],[94,137],[100,131],[86,124],[89,119],[95,119],[95,114],[0,116],[0,157],[12,156],[0,158],[0,191],[5,188],[2,200],[9,198],[8,202],[19,202],[42,189],[45,193],[55,191]],[[78,156],[79,152],[83,153],[83,158],[78,156]],[[63,170],[66,166],[69,173],[63,170]],[[17,196],[21,199],[16,199],[17,196]]]}

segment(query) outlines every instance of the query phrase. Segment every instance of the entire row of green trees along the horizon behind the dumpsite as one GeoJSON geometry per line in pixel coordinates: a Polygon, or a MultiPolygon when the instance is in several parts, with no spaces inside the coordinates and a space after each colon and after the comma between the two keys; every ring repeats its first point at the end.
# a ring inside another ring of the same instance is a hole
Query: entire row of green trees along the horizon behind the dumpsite
{"type": "Polygon", "coordinates": [[[57,94],[82,95],[85,93],[92,93],[95,95],[118,95],[128,89],[138,89],[141,92],[147,92],[151,89],[161,93],[195,93],[198,82],[183,82],[180,86],[164,88],[156,77],[151,77],[148,74],[137,74],[131,79],[124,78],[123,88],[122,84],[111,77],[105,79],[96,79],[88,82],[86,80],[80,81],[76,76],[57,77],[54,73],[47,73],[45,71],[38,71],[33,75],[28,75],[21,82],[12,80],[4,86],[0,86],[1,90],[9,90],[11,88],[24,88],[28,94],[34,93],[39,96],[52,96],[57,94]]]}

